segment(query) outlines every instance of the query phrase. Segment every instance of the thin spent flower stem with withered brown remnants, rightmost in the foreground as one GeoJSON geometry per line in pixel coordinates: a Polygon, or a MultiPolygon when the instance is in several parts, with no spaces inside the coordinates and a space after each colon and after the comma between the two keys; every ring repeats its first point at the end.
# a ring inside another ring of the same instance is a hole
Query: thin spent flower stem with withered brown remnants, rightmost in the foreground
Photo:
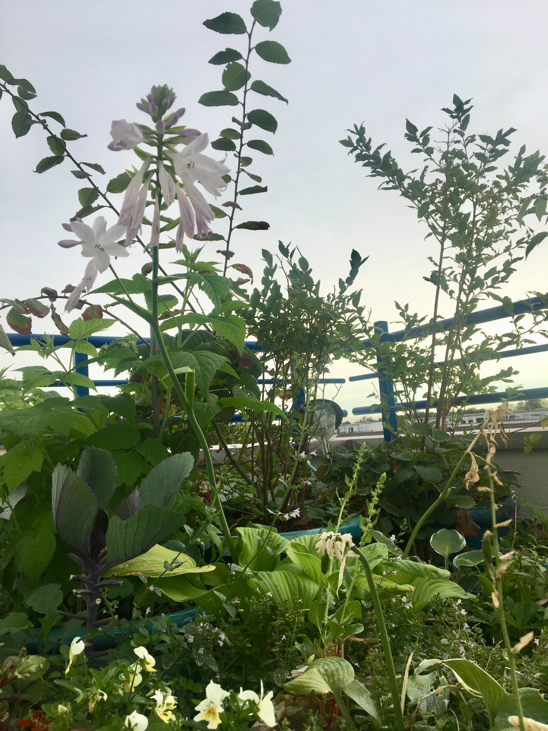
{"type": "MultiPolygon", "coordinates": [[[[502,575],[508,564],[505,564],[503,559],[501,558],[501,552],[498,548],[498,523],[497,523],[497,505],[495,503],[495,479],[498,479],[496,477],[496,471],[493,472],[491,469],[491,458],[492,455],[495,454],[495,445],[492,444],[490,447],[490,450],[487,454],[487,460],[485,460],[485,471],[487,472],[487,477],[489,478],[489,494],[491,499],[491,520],[492,520],[492,532],[486,531],[484,534],[484,554],[486,553],[486,548],[490,553],[490,548],[492,547],[493,553],[495,554],[495,577],[492,575],[492,560],[491,556],[488,556],[490,559],[489,562],[487,560],[485,561],[485,566],[487,567],[488,571],[490,572],[492,582],[495,588],[495,591],[492,593],[492,602],[493,605],[495,605],[495,609],[497,610],[498,614],[498,621],[501,623],[501,632],[503,634],[504,638],[504,645],[506,647],[506,655],[508,656],[508,665],[510,668],[510,676],[511,676],[511,683],[512,683],[512,692],[514,693],[514,699],[516,701],[516,707],[517,707],[517,716],[520,719],[520,731],[525,731],[525,721],[523,720],[523,708],[522,708],[522,702],[520,698],[520,690],[519,686],[517,684],[517,673],[516,673],[516,661],[514,659],[514,653],[512,651],[512,646],[510,643],[510,637],[508,635],[508,627],[506,626],[506,617],[504,616],[504,596],[503,596],[503,586],[502,586],[502,575]],[[485,544],[488,544],[487,546],[485,544]]],[[[483,462],[483,460],[482,460],[483,462]]],[[[512,553],[512,552],[510,552],[512,553]]],[[[487,558],[487,557],[486,557],[487,558]]],[[[509,556],[504,556],[503,558],[509,558],[509,556]]]]}

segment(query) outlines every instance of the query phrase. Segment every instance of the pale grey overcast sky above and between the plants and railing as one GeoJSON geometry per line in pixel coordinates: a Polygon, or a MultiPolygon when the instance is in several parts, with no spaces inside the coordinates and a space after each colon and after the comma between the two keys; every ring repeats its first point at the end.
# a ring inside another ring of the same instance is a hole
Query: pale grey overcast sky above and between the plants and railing
{"type": "MultiPolygon", "coordinates": [[[[94,178],[101,185],[135,161],[132,153],[107,150],[111,120],[145,122],[135,102],[153,83],[173,86],[176,106],[186,107],[183,122],[209,132],[210,139],[232,124],[234,108],[203,107],[197,101],[205,91],[221,88],[223,67],[208,64],[208,59],[227,46],[243,48],[244,37],[216,34],[202,21],[230,10],[248,22],[250,5],[242,0],[2,0],[0,62],[37,88],[34,110],[56,110],[67,126],[88,135],[72,143],[71,151],[80,160],[103,165],[107,175],[94,178]]],[[[355,248],[370,257],[356,284],[364,290],[362,303],[372,308],[373,319],[395,320],[395,299],[408,302],[411,311],[428,314],[433,287],[422,276],[431,269],[426,257],[436,254],[433,240],[424,240],[425,230],[396,194],[376,190],[375,181],[365,178],[338,140],[346,136],[347,127],[364,121],[373,143],[387,142],[402,167],[411,169],[417,160],[409,156],[403,139],[406,117],[419,129],[440,126],[445,116],[441,107],[450,105],[457,93],[473,97],[470,129],[492,133],[514,126],[511,149],[526,144],[528,151],[544,153],[547,4],[286,0],[282,7],[278,26],[271,34],[259,28],[257,40],[283,43],[292,63],[267,64],[255,57],[250,66],[254,78],[289,99],[286,105],[255,95],[253,102],[276,116],[278,131],[260,135],[275,155],[254,152],[250,170],[262,176],[268,192],[248,197],[243,216],[268,221],[270,230],[238,232],[231,245],[233,261],[249,265],[260,280],[261,249],[274,250],[278,239],[292,241],[325,292],[346,276],[355,248]]],[[[1,99],[1,296],[26,298],[41,287],[62,289],[82,277],[85,260],[79,249],[56,246],[66,236],[61,222],[80,207],[81,183],[71,175],[69,162],[42,175],[32,172],[51,153],[37,128],[15,140],[13,113],[11,102],[1,99]]],[[[220,156],[211,150],[209,154],[220,156]]],[[[115,222],[108,213],[107,220],[115,222]]],[[[218,246],[206,246],[210,257],[216,257],[218,246]]],[[[171,260],[169,251],[164,256],[171,260]]],[[[144,262],[134,250],[117,268],[129,274],[144,262]]],[[[546,290],[547,273],[545,242],[520,264],[503,293],[515,300],[526,291],[546,290]]],[[[442,314],[451,314],[446,303],[442,314]]],[[[35,321],[34,330],[41,326],[35,321]]],[[[10,357],[0,356],[0,366],[8,364],[10,357]]],[[[525,387],[548,385],[547,357],[516,358],[513,365],[521,371],[517,382],[525,387]]],[[[484,372],[499,367],[487,364],[484,372]]],[[[332,375],[358,370],[339,363],[332,375]]],[[[337,400],[349,410],[363,405],[371,383],[347,383],[337,400]]]]}

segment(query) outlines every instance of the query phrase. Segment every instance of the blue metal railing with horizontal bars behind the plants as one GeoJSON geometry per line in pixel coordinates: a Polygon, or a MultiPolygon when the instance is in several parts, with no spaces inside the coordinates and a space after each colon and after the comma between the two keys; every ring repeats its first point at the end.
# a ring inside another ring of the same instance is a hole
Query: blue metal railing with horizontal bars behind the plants
{"type": "MultiPolygon", "coordinates": [[[[483,322],[493,322],[494,320],[498,319],[506,319],[508,317],[512,317],[513,315],[522,315],[522,314],[531,314],[533,312],[539,311],[541,309],[547,308],[547,304],[541,300],[540,297],[533,297],[529,298],[527,300],[518,300],[517,302],[511,303],[511,314],[507,311],[507,309],[504,306],[498,306],[498,307],[490,307],[486,308],[484,310],[474,311],[471,314],[469,314],[466,317],[466,324],[467,325],[479,325],[483,322]]],[[[446,328],[451,327],[453,324],[453,318],[449,317],[448,319],[438,320],[436,329],[438,333],[443,332],[443,330],[446,330],[446,328]]],[[[375,330],[375,333],[379,334],[381,337],[379,338],[381,342],[392,342],[397,343],[401,342],[404,339],[411,339],[419,335],[424,335],[428,332],[430,329],[431,331],[431,325],[430,326],[416,326],[411,327],[409,330],[397,330],[394,333],[390,333],[388,329],[388,322],[386,320],[379,320],[378,322],[373,323],[373,327],[375,330]]],[[[7,333],[7,336],[9,338],[9,341],[13,346],[23,346],[28,345],[31,341],[31,338],[34,338],[36,340],[42,340],[44,336],[43,335],[19,335],[18,333],[7,333]]],[[[93,335],[87,338],[88,342],[96,347],[100,347],[102,345],[107,345],[112,343],[115,340],[119,340],[120,338],[118,336],[97,336],[93,335]]],[[[66,338],[62,335],[54,335],[53,336],[53,344],[54,345],[65,345],[69,343],[70,338],[66,338]]],[[[148,342],[148,338],[147,338],[148,342]]],[[[137,343],[142,343],[142,341],[137,341],[137,343]]],[[[370,347],[371,341],[370,339],[362,341],[364,349],[370,347]]],[[[260,343],[256,341],[247,340],[246,341],[246,347],[250,350],[261,350],[262,346],[260,343]]],[[[479,358],[479,361],[482,362],[484,360],[498,360],[499,358],[508,358],[512,356],[517,355],[533,355],[535,353],[540,352],[548,352],[548,344],[543,345],[534,345],[527,348],[516,348],[511,350],[505,350],[502,352],[492,352],[490,355],[484,355],[479,358]]],[[[82,353],[76,353],[75,352],[75,365],[78,363],[84,363],[86,360],[88,360],[88,357],[86,355],[83,355],[82,353]]],[[[384,428],[384,439],[387,442],[391,442],[392,439],[396,439],[397,437],[397,412],[398,411],[406,411],[407,409],[410,409],[411,406],[414,406],[416,409],[425,409],[426,408],[426,401],[416,401],[414,404],[397,404],[395,401],[395,390],[394,390],[394,382],[392,379],[387,376],[386,369],[383,368],[381,365],[382,358],[380,356],[377,357],[377,363],[379,364],[378,372],[376,373],[370,373],[370,374],[360,374],[359,376],[350,376],[349,381],[365,381],[369,379],[375,379],[378,378],[378,390],[379,394],[381,396],[382,405],[376,406],[372,408],[371,406],[356,406],[354,409],[352,409],[352,414],[355,416],[361,415],[361,414],[378,414],[381,413],[383,417],[383,421],[385,423],[388,423],[389,428],[384,428]]],[[[435,363],[435,367],[440,368],[444,365],[444,363],[435,363]]],[[[80,368],[75,369],[77,373],[83,374],[85,376],[88,376],[88,366],[80,366],[80,368]]],[[[271,384],[273,383],[273,379],[258,379],[258,383],[265,383],[265,384],[271,384]]],[[[94,385],[96,386],[121,386],[126,385],[128,383],[127,380],[123,379],[98,379],[94,380],[94,385]]],[[[319,379],[319,383],[321,384],[343,384],[346,383],[346,379],[344,378],[324,378],[319,379]]],[[[66,386],[65,383],[62,382],[55,382],[53,384],[56,387],[60,386],[66,386]]],[[[76,392],[78,395],[88,395],[89,389],[84,386],[76,386],[76,392]]],[[[501,391],[499,393],[484,393],[479,395],[473,395],[473,396],[458,396],[455,399],[455,405],[460,405],[463,402],[466,402],[467,404],[496,404],[498,401],[501,401],[502,399],[510,400],[518,400],[522,398],[530,399],[530,398],[548,398],[548,387],[540,387],[540,388],[528,388],[528,389],[522,389],[515,395],[509,397],[506,391],[501,391]]],[[[437,406],[438,402],[435,401],[433,404],[430,404],[430,406],[437,406]]],[[[343,410],[343,416],[348,416],[348,412],[346,410],[343,410]]],[[[235,417],[235,420],[237,420],[237,417],[235,417]]]]}

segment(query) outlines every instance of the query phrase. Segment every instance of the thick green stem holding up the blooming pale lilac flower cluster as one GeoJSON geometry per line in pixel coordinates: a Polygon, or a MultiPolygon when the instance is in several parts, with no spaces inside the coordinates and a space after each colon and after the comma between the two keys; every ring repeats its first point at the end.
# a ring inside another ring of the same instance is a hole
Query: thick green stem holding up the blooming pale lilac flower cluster
{"type": "Polygon", "coordinates": [[[172,386],[175,389],[175,393],[177,393],[180,403],[183,405],[183,409],[185,410],[186,417],[189,420],[189,423],[191,427],[194,429],[194,433],[196,433],[196,436],[198,437],[198,441],[200,444],[200,447],[202,447],[202,452],[204,453],[204,460],[205,460],[205,469],[208,474],[208,481],[211,485],[211,490],[213,491],[213,504],[215,505],[215,508],[218,513],[218,520],[221,525],[221,531],[223,531],[224,534],[224,540],[226,542],[226,545],[228,546],[228,549],[230,551],[230,556],[232,557],[232,561],[236,561],[236,554],[235,554],[235,545],[234,541],[232,540],[232,536],[230,535],[230,529],[227,523],[227,517],[224,515],[223,510],[223,504],[221,502],[221,497],[218,493],[218,485],[215,477],[215,471],[213,469],[213,460],[211,459],[210,451],[209,451],[209,444],[207,442],[207,439],[205,439],[205,435],[200,428],[199,423],[197,422],[196,416],[194,415],[194,371],[191,371],[190,373],[186,374],[186,382],[185,382],[185,390],[183,390],[183,387],[180,385],[179,379],[177,377],[177,374],[175,373],[175,369],[172,366],[170,356],[167,353],[166,346],[164,344],[164,339],[161,336],[161,330],[158,324],[158,247],[154,246],[152,249],[152,314],[153,317],[151,318],[151,330],[156,337],[156,344],[158,346],[159,354],[161,355],[161,360],[164,362],[164,366],[167,369],[167,373],[170,375],[170,379],[172,382],[172,386]],[[156,317],[154,316],[156,309],[156,317]]]}

